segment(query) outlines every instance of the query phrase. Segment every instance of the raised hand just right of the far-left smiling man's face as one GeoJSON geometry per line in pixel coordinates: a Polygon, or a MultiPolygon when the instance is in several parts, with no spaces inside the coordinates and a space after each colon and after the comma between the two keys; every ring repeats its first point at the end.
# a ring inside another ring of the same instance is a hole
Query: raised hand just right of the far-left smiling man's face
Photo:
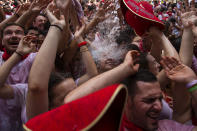
{"type": "Polygon", "coordinates": [[[35,39],[37,39],[35,36],[31,36],[31,35],[24,36],[20,40],[16,51],[22,55],[26,55],[35,51],[36,45],[33,43],[35,39]]]}

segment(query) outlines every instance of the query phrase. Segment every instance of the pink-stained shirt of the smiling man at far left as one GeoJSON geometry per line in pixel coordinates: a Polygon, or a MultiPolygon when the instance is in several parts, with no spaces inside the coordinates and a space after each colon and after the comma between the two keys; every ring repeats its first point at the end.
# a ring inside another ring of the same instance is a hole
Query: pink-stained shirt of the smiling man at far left
{"type": "MultiPolygon", "coordinates": [[[[2,55],[3,52],[0,51],[0,65],[3,65],[3,63],[5,62],[2,59],[2,55]]],[[[15,65],[12,68],[6,83],[7,84],[27,83],[29,72],[35,56],[36,53],[31,53],[26,59],[15,65]]]]}

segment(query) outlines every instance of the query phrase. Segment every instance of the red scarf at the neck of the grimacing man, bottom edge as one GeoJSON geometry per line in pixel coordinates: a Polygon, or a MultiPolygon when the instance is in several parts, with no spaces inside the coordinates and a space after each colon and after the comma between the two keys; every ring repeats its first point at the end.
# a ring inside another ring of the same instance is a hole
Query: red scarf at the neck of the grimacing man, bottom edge
{"type": "Polygon", "coordinates": [[[126,115],[123,116],[120,131],[143,131],[140,127],[137,127],[132,122],[130,122],[126,115]]]}

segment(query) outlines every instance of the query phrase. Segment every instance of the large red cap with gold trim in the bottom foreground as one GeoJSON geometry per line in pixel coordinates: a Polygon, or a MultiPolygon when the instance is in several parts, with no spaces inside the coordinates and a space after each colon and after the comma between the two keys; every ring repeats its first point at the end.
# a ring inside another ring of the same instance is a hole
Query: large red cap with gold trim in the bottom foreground
{"type": "Polygon", "coordinates": [[[112,85],[29,120],[29,131],[119,130],[127,99],[123,85],[112,85]]]}

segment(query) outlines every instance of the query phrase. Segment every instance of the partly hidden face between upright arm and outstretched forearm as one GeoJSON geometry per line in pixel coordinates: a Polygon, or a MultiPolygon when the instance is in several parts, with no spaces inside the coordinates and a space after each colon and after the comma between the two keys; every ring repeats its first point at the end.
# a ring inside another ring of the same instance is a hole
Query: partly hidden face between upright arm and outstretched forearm
{"type": "Polygon", "coordinates": [[[53,100],[50,108],[56,108],[64,104],[65,96],[76,87],[76,84],[72,78],[67,78],[59,83],[53,89],[53,100]]]}

